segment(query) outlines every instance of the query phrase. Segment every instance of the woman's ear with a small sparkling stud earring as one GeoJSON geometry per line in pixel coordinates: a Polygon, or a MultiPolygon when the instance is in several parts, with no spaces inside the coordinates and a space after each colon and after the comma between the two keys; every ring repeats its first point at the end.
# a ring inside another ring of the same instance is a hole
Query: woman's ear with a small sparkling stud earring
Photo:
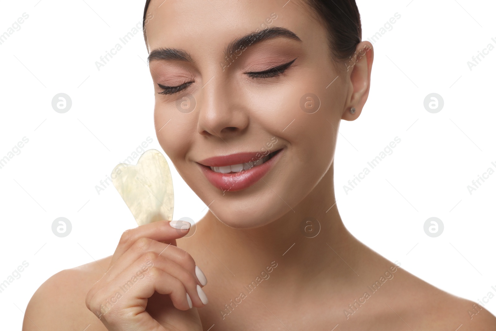
{"type": "Polygon", "coordinates": [[[373,62],[373,48],[368,41],[362,41],[357,45],[355,53],[346,61],[346,82],[348,84],[348,95],[343,109],[342,119],[346,121],[356,120],[362,113],[362,109],[369,97],[371,85],[371,71],[373,62]],[[355,108],[355,114],[350,112],[355,108]]]}

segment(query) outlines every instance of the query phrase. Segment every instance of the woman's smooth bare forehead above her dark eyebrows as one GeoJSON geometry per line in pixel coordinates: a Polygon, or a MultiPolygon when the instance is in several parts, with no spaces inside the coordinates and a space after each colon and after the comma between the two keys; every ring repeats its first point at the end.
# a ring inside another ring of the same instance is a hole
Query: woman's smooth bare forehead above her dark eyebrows
{"type": "Polygon", "coordinates": [[[303,0],[152,0],[146,17],[148,51],[178,48],[193,57],[223,54],[233,39],[268,27],[291,30],[304,46],[325,34],[303,0]]]}

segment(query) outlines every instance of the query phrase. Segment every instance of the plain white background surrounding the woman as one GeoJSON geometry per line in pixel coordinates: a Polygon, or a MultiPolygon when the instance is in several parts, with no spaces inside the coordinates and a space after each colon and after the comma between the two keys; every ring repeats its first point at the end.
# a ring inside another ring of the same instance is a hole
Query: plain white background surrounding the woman
{"type": "MultiPolygon", "coordinates": [[[[136,223],[113,186],[100,194],[95,186],[148,136],[147,149],[162,151],[142,32],[100,70],[95,66],[141,22],[145,1],[38,1],[0,4],[0,34],[29,15],[0,45],[0,158],[29,139],[0,169],[0,282],[23,261],[29,264],[0,293],[3,330],[20,330],[29,299],[51,275],[113,254],[122,232],[136,223]],[[65,114],[51,105],[61,92],[72,99],[65,114]],[[51,230],[61,216],[72,224],[65,238],[51,230]]],[[[467,65],[489,43],[496,46],[496,4],[357,2],[363,40],[396,12],[401,18],[373,45],[362,115],[341,123],[335,191],[345,225],[436,287],[473,301],[496,294],[496,174],[472,195],[467,189],[489,167],[496,170],[496,50],[472,70],[467,65]],[[424,108],[430,93],[444,100],[439,113],[424,108]],[[393,153],[345,194],[343,185],[396,136],[401,142],[393,153]],[[444,224],[437,238],[423,229],[433,216],[444,224]]],[[[168,161],[174,219],[200,219],[205,204],[168,161]]],[[[496,314],[496,298],[485,308],[496,314]]]]}

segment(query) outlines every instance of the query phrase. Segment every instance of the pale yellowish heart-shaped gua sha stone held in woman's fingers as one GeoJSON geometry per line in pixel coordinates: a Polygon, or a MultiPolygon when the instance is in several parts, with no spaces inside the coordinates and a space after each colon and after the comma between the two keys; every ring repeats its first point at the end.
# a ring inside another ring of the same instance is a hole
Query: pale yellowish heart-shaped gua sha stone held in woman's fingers
{"type": "Polygon", "coordinates": [[[172,176],[167,160],[161,152],[148,149],[140,156],[136,165],[119,163],[112,174],[112,184],[131,210],[138,225],[164,219],[172,220],[172,176]]]}

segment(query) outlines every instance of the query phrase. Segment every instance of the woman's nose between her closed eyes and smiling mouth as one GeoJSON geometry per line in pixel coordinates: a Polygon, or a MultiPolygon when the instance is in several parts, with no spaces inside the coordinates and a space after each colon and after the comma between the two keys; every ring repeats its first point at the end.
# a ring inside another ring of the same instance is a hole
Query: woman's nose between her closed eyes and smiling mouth
{"type": "Polygon", "coordinates": [[[211,79],[199,94],[197,131],[205,136],[222,139],[244,132],[249,123],[248,110],[234,84],[226,80],[211,79]]]}

